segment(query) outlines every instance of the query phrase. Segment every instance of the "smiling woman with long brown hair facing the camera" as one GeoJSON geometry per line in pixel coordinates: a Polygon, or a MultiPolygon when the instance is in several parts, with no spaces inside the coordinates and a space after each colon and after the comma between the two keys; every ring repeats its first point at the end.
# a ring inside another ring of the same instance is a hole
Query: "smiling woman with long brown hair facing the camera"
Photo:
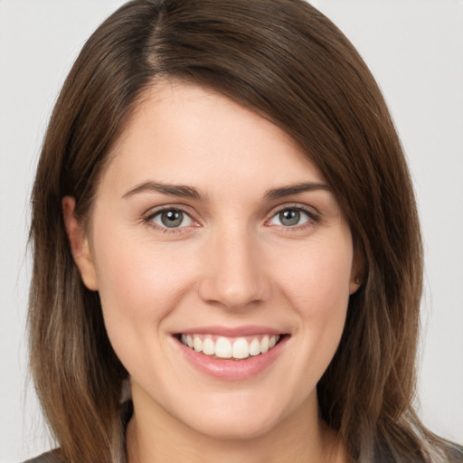
{"type": "Polygon", "coordinates": [[[31,235],[45,458],[461,460],[411,407],[422,264],[400,142],[305,2],[110,16],[53,111],[31,235]]]}

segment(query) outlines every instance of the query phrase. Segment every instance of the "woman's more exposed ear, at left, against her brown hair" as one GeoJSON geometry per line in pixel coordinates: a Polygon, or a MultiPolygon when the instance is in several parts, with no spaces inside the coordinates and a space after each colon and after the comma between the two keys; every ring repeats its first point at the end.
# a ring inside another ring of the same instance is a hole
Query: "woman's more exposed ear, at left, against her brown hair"
{"type": "Polygon", "coordinates": [[[89,239],[83,223],[75,216],[76,200],[72,196],[64,196],[61,201],[64,226],[71,245],[71,253],[84,285],[91,291],[98,290],[98,279],[95,264],[90,252],[89,239]]]}

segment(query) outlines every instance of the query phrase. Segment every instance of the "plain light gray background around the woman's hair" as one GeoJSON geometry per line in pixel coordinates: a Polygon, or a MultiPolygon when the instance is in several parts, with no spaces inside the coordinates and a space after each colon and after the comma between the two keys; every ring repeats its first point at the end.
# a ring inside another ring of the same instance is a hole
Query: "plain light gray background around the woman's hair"
{"type": "MultiPolygon", "coordinates": [[[[26,379],[28,196],[52,104],[121,0],[0,0],[0,461],[49,449],[26,379]]],[[[426,244],[420,415],[463,442],[463,1],[314,0],[376,76],[409,156],[426,244]]]]}

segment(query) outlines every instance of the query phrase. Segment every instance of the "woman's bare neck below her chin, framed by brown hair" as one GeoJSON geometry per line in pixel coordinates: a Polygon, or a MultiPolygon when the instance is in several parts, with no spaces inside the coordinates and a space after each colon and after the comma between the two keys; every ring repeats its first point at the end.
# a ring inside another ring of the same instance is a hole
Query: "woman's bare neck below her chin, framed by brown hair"
{"type": "Polygon", "coordinates": [[[128,463],[343,463],[335,432],[318,417],[317,397],[271,430],[250,438],[219,439],[186,426],[161,407],[134,397],[128,424],[128,463]]]}

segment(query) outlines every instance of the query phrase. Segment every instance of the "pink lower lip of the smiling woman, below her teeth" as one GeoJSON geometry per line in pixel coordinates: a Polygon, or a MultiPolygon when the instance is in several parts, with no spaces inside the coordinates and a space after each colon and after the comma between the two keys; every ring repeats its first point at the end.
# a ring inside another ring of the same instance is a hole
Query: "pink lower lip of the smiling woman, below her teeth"
{"type": "Polygon", "coordinates": [[[233,360],[219,359],[196,352],[175,338],[176,344],[190,364],[193,364],[201,372],[224,381],[243,381],[263,372],[277,360],[287,340],[288,336],[284,336],[277,345],[269,349],[265,354],[250,355],[246,359],[233,360]]]}

